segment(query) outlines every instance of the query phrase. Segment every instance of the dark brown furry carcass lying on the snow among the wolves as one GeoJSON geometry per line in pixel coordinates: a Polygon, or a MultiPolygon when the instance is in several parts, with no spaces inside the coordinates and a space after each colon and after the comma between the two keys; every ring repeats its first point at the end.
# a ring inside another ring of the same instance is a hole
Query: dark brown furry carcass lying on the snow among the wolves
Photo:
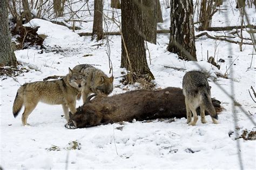
{"type": "MultiPolygon", "coordinates": [[[[77,108],[65,127],[83,128],[133,119],[186,117],[184,101],[182,90],[176,87],[156,91],[135,90],[111,97],[96,96],[77,108]]],[[[220,112],[220,101],[212,101],[217,112],[220,112]]]]}

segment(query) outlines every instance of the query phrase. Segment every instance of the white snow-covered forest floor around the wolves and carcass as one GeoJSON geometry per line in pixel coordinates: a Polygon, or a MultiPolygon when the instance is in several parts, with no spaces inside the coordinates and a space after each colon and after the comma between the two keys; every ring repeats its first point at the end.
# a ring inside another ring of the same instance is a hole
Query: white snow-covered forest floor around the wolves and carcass
{"type": "MultiPolygon", "coordinates": [[[[165,1],[164,1],[165,2],[165,1]]],[[[92,6],[93,2],[90,2],[92,6]]],[[[221,10],[213,16],[213,26],[240,25],[239,11],[234,8],[235,3],[228,1],[227,10],[221,10]],[[230,5],[233,6],[231,9],[230,5]]],[[[109,6],[105,5],[105,9],[109,6]]],[[[246,9],[252,22],[255,14],[254,8],[246,9]]],[[[169,28],[170,10],[162,6],[164,24],[159,28],[169,28]]],[[[107,11],[106,11],[107,12],[107,11]]],[[[120,12],[120,11],[119,11],[120,12]]],[[[28,24],[29,25],[29,24],[28,24]]],[[[76,33],[63,26],[50,22],[33,19],[30,25],[40,25],[39,33],[48,37],[44,45],[48,50],[35,48],[15,51],[17,60],[23,67],[29,69],[27,73],[15,79],[1,78],[1,162],[4,169],[106,169],[106,168],[192,168],[192,169],[238,169],[240,168],[237,142],[240,143],[240,154],[245,169],[255,169],[255,141],[234,140],[235,132],[233,114],[237,114],[237,129],[253,130],[255,126],[246,116],[255,122],[256,107],[248,89],[255,87],[255,57],[252,59],[252,45],[243,45],[239,51],[238,44],[215,41],[206,37],[196,39],[197,58],[199,62],[184,62],[166,50],[169,35],[157,36],[157,45],[147,43],[149,46],[151,64],[149,67],[154,74],[157,87],[181,87],[185,70],[201,68],[209,71],[212,86],[212,97],[221,101],[225,111],[219,114],[219,124],[212,124],[211,118],[206,116],[207,124],[198,121],[196,126],[188,126],[186,119],[175,119],[172,123],[153,120],[150,123],[135,122],[124,125],[109,124],[97,127],[68,130],[64,127],[66,120],[61,117],[62,107],[59,105],[46,105],[39,103],[29,116],[31,126],[22,126],[21,115],[15,119],[12,115],[12,104],[16,92],[24,83],[43,80],[52,75],[68,73],[68,67],[77,64],[93,64],[109,73],[109,61],[106,55],[106,41],[91,41],[91,37],[79,37],[76,33]],[[93,46],[104,43],[102,46],[93,46]],[[56,52],[56,50],[58,52],[56,52]],[[225,63],[218,63],[220,70],[207,63],[209,56],[225,63]],[[84,55],[92,55],[83,57],[84,55]],[[230,57],[229,57],[230,56],[230,57]],[[233,62],[233,63],[232,63],[233,62]],[[252,62],[252,66],[250,67],[252,62]],[[231,66],[231,67],[230,67],[231,66]],[[33,68],[33,69],[32,69],[33,68]],[[177,68],[177,69],[173,69],[177,68]],[[178,70],[179,69],[179,70],[178,70]],[[233,72],[231,71],[233,69],[233,72]],[[214,72],[228,73],[230,79],[217,78],[214,72]],[[217,85],[218,84],[218,85],[217,85]],[[234,91],[231,85],[234,86],[234,91]],[[242,112],[238,106],[232,110],[232,101],[220,87],[228,94],[234,93],[234,98],[246,110],[242,112]],[[123,126],[122,130],[117,127],[123,126]],[[69,142],[77,141],[80,149],[68,149],[69,142]],[[58,148],[59,151],[50,151],[49,148],[58,148]]],[[[86,31],[90,31],[92,23],[87,23],[86,31]],[[89,28],[89,29],[88,29],[89,28]]],[[[114,28],[114,27],[113,27],[114,28]]],[[[208,32],[211,35],[227,35],[225,32],[208,32]]],[[[195,32],[196,35],[200,32],[195,32]]],[[[245,37],[250,36],[243,32],[245,37]]],[[[239,39],[237,39],[239,40],[239,39]]],[[[125,92],[126,87],[119,83],[121,71],[121,38],[110,37],[111,60],[113,64],[114,86],[112,94],[125,92]],[[117,87],[119,86],[119,87],[117,87]]],[[[254,52],[255,53],[255,52],[254,52]]],[[[149,53],[147,53],[149,56],[149,53]]],[[[108,74],[110,76],[110,74],[108,74]]],[[[128,89],[135,89],[129,86],[128,89]]],[[[111,94],[111,95],[112,95],[111,94]]],[[[78,101],[77,105],[82,105],[78,101]]],[[[23,110],[22,110],[23,111],[23,110]]]]}

